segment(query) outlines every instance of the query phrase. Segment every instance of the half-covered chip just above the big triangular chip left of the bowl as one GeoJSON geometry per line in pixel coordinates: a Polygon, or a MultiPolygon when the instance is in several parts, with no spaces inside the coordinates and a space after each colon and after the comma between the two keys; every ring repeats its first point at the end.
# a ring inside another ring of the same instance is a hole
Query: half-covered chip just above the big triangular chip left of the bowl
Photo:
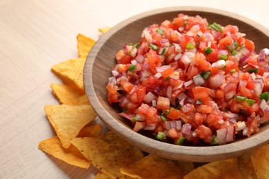
{"type": "Polygon", "coordinates": [[[75,85],[51,84],[52,93],[65,105],[90,105],[85,92],[75,85]]]}

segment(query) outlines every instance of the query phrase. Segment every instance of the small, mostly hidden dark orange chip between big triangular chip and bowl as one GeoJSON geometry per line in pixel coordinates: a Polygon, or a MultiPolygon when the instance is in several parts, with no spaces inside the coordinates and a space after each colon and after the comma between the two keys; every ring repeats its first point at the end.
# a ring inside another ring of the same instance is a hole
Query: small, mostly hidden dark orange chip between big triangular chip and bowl
{"type": "Polygon", "coordinates": [[[103,130],[102,125],[91,125],[89,127],[83,127],[81,131],[79,131],[79,134],[77,135],[77,138],[84,138],[84,137],[90,137],[94,138],[101,134],[103,130]]]}

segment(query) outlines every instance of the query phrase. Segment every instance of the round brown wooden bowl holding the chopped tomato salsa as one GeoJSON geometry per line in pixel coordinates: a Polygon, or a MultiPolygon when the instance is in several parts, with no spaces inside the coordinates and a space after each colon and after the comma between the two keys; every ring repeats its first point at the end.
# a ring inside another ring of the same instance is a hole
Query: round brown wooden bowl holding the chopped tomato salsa
{"type": "Polygon", "coordinates": [[[269,47],[269,30],[250,19],[223,10],[175,7],[153,10],[131,17],[101,36],[88,55],[84,67],[83,81],[86,94],[99,118],[119,137],[126,139],[135,147],[150,154],[173,160],[190,162],[223,160],[239,156],[268,143],[268,123],[260,127],[260,131],[250,138],[235,140],[227,145],[189,147],[163,143],[132,131],[132,126],[128,121],[118,115],[119,111],[108,105],[106,84],[108,83],[108,77],[112,76],[111,70],[112,65],[116,63],[115,54],[117,51],[121,50],[126,43],[137,43],[141,39],[141,32],[148,25],[152,23],[160,24],[166,19],[172,20],[179,13],[189,16],[199,14],[199,16],[208,19],[208,23],[237,25],[240,32],[246,33],[247,38],[255,42],[257,52],[269,47]]]}

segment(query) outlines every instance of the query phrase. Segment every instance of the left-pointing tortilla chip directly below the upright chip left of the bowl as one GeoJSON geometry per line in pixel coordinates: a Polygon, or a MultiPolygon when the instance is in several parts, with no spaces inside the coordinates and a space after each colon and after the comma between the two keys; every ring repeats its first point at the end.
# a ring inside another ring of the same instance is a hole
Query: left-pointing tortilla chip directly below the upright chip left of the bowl
{"type": "Polygon", "coordinates": [[[84,89],[83,86],[83,67],[86,59],[70,59],[54,65],[51,70],[64,83],[74,83],[79,89],[84,89]]]}

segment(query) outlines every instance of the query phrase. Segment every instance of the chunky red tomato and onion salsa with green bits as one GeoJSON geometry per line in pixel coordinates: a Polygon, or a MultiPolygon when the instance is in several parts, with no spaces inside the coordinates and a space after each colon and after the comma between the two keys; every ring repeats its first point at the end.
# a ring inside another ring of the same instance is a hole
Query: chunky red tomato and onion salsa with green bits
{"type": "Polygon", "coordinates": [[[269,120],[268,54],[236,25],[178,14],[117,52],[108,103],[157,140],[230,143],[269,120]]]}

